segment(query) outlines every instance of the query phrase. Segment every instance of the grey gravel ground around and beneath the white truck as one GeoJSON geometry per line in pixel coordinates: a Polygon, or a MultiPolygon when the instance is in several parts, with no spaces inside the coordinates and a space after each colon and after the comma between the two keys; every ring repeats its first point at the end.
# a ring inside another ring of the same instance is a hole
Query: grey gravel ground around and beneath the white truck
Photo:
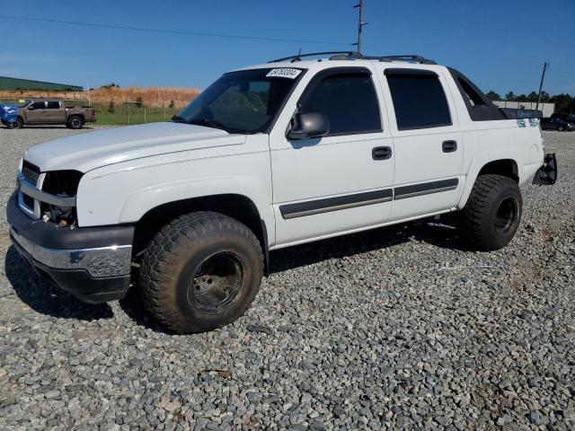
{"type": "MultiPolygon", "coordinates": [[[[23,151],[75,134],[0,129],[5,204],[23,151]]],[[[546,132],[554,187],[523,188],[502,251],[420,222],[273,252],[233,325],[155,328],[89,306],[0,251],[0,428],[575,429],[575,133],[546,132]]]]}

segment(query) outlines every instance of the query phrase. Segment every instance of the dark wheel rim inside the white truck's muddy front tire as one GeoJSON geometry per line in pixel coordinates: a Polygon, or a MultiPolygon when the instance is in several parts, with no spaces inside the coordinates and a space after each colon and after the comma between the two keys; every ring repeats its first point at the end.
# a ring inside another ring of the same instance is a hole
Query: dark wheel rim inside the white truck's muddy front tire
{"type": "Polygon", "coordinates": [[[204,259],[188,285],[190,302],[202,312],[217,313],[226,309],[242,290],[244,268],[242,259],[229,251],[204,259]]]}

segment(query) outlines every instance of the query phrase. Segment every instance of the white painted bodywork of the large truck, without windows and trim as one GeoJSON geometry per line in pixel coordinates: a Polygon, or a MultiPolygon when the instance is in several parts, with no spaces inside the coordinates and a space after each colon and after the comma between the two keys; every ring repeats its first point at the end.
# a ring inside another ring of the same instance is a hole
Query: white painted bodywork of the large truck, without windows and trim
{"type": "Polygon", "coordinates": [[[524,182],[543,162],[539,128],[518,128],[515,120],[471,121],[455,82],[443,66],[338,60],[251,68],[294,66],[305,73],[270,136],[230,135],[213,128],[156,123],[36,145],[26,159],[39,165],[42,172],[85,172],[77,196],[80,226],[134,223],[164,203],[236,194],[251,199],[257,207],[272,249],[462,208],[486,163],[514,160],[519,180],[524,182]],[[336,66],[361,66],[372,71],[382,105],[383,132],[289,142],[285,137],[288,123],[306,84],[318,71],[336,66]],[[453,125],[397,130],[385,67],[438,73],[453,125]],[[457,141],[455,154],[442,152],[444,140],[457,141]],[[390,146],[392,158],[374,161],[374,146],[390,146]],[[448,178],[459,178],[455,190],[288,220],[279,213],[279,206],[285,203],[448,178]]]}

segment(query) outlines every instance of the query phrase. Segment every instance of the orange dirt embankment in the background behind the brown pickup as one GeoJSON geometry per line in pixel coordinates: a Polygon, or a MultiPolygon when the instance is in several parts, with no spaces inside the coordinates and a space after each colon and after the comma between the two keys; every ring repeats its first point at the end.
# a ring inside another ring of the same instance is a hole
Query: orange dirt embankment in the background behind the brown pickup
{"type": "MultiPolygon", "coordinates": [[[[90,101],[93,103],[121,103],[123,101],[137,101],[138,97],[147,106],[170,106],[173,102],[175,107],[181,108],[199,94],[197,88],[178,87],[110,87],[97,88],[90,91],[90,101]]],[[[88,102],[88,92],[46,92],[46,91],[2,91],[2,100],[23,100],[34,98],[57,98],[65,101],[85,101],[88,102]]]]}

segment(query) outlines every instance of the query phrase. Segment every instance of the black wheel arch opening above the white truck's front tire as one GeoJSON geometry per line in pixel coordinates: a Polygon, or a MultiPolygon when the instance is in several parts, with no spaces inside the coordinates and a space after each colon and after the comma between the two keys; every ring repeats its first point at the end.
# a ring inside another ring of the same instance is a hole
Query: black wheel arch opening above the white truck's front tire
{"type": "Polygon", "coordinates": [[[164,224],[195,211],[214,211],[245,224],[261,243],[264,272],[269,275],[270,253],[268,227],[252,199],[235,193],[180,199],[150,208],[135,224],[134,256],[146,250],[148,242],[164,224]]]}

